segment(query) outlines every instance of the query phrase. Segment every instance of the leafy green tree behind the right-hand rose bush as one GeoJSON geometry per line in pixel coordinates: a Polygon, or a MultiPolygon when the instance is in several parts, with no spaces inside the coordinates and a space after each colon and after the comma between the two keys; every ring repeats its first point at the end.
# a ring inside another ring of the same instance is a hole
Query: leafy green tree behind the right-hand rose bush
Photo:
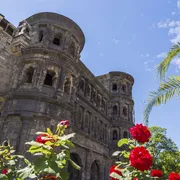
{"type": "Polygon", "coordinates": [[[172,171],[180,173],[180,152],[176,144],[167,137],[166,129],[157,126],[149,129],[152,136],[147,148],[154,157],[152,168],[162,170],[164,178],[172,171]]]}

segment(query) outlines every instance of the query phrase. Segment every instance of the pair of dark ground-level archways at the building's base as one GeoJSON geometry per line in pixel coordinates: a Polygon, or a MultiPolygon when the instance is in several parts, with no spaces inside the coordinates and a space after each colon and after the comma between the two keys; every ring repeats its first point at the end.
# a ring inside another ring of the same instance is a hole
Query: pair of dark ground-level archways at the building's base
{"type": "MultiPolygon", "coordinates": [[[[69,172],[69,180],[81,180],[82,179],[82,161],[80,156],[77,153],[71,153],[71,159],[77,163],[81,170],[76,170],[72,167],[71,164],[68,165],[68,172],[69,172]]],[[[100,166],[97,160],[95,160],[91,164],[90,168],[90,180],[100,180],[100,166]]]]}

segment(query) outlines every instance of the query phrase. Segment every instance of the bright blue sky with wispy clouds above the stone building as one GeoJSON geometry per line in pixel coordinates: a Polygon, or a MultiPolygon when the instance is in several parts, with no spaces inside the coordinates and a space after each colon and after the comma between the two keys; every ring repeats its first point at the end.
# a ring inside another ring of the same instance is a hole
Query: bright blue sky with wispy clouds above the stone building
{"type": "MultiPolygon", "coordinates": [[[[14,25],[42,11],[63,14],[82,28],[86,44],[81,60],[95,75],[117,70],[135,78],[136,122],[142,122],[144,101],[159,83],[154,66],[180,41],[180,0],[1,0],[0,13],[14,25]]],[[[179,70],[176,58],[169,74],[179,70]]],[[[167,128],[180,148],[179,103],[177,97],[155,107],[149,120],[167,128]]]]}

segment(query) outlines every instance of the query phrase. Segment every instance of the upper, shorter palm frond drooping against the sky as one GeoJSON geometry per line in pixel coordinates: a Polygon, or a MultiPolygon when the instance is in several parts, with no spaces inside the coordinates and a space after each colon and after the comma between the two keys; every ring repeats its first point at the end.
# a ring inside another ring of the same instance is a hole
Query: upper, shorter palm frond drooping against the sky
{"type": "Polygon", "coordinates": [[[171,61],[178,54],[180,54],[180,43],[175,44],[168,52],[167,57],[157,66],[157,74],[160,79],[165,77],[165,73],[168,70],[171,61]]]}

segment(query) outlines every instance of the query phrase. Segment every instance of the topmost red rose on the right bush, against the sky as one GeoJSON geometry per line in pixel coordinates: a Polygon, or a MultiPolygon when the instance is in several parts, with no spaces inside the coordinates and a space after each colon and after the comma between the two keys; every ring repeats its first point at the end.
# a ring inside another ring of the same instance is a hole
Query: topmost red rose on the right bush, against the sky
{"type": "Polygon", "coordinates": [[[149,142],[151,133],[146,126],[142,124],[136,124],[136,126],[130,128],[131,136],[140,143],[149,142]]]}

